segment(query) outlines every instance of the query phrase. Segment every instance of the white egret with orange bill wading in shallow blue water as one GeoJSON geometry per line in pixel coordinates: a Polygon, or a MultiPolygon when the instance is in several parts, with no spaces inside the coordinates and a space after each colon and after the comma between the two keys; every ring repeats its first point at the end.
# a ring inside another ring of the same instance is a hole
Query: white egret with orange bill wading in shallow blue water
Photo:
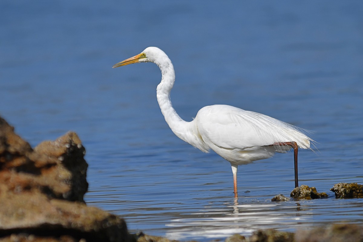
{"type": "Polygon", "coordinates": [[[168,56],[159,48],[148,47],[142,53],[115,64],[113,68],[139,62],[153,62],[161,70],[156,98],[174,134],[203,152],[212,149],[231,163],[235,197],[238,165],[270,158],[275,152],[285,153],[290,147],[294,149],[295,187],[298,187],[298,148],[308,149],[310,141],[313,141],[304,134],[305,130],[228,105],[203,107],[192,121],[184,121],[170,101],[175,72],[168,56]]]}

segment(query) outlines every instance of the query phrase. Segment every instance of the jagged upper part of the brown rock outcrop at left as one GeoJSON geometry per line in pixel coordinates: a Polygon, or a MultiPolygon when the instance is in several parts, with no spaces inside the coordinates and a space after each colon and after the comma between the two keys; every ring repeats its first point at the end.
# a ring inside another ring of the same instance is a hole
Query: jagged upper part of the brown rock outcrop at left
{"type": "Polygon", "coordinates": [[[44,141],[34,150],[0,118],[0,190],[33,191],[83,201],[87,192],[85,148],[74,132],[44,141]]]}

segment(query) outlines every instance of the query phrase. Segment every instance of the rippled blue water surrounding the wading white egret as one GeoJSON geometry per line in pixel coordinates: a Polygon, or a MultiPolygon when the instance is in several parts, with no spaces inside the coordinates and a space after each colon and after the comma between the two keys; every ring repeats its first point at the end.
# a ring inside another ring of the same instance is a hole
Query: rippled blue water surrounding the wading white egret
{"type": "Polygon", "coordinates": [[[171,239],[223,238],[363,222],[361,1],[0,2],[0,115],[34,147],[76,131],[89,163],[87,204],[171,239]],[[211,104],[314,131],[300,184],[324,200],[270,202],[294,186],[292,154],[244,165],[233,198],[228,162],[179,140],[159,110],[154,64],[111,69],[158,46],[174,63],[171,99],[191,120],[211,104]]]}

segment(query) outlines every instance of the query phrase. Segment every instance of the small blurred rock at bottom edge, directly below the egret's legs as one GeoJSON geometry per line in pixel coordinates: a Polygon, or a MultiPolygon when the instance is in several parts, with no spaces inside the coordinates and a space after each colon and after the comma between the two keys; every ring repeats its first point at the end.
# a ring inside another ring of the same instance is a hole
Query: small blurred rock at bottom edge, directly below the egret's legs
{"type": "Polygon", "coordinates": [[[294,233],[278,231],[275,229],[254,231],[248,242],[293,242],[294,233]]]}

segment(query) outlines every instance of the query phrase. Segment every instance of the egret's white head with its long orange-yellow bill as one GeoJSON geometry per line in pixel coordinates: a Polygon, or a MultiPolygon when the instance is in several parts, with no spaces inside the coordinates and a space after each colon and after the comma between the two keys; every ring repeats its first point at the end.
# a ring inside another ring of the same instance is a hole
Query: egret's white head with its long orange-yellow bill
{"type": "Polygon", "coordinates": [[[125,61],[118,62],[117,64],[113,65],[112,68],[119,67],[119,66],[126,66],[132,63],[139,63],[139,62],[154,62],[156,63],[157,60],[166,57],[166,54],[157,47],[148,47],[144,49],[143,52],[140,54],[133,56],[125,61]]]}

